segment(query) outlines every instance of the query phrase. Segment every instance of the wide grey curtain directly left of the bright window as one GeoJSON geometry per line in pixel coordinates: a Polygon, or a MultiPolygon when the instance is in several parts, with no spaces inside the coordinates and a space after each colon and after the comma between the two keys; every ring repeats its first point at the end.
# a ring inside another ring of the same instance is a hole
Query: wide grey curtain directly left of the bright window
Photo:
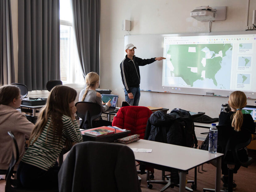
{"type": "Polygon", "coordinates": [[[46,90],[60,80],[59,0],[19,0],[18,82],[31,90],[46,90]]]}

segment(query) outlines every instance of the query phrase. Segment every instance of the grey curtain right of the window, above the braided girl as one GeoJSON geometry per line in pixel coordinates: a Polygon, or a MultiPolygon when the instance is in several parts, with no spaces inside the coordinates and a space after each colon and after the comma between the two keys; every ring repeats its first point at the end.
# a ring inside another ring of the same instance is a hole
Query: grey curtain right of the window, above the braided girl
{"type": "Polygon", "coordinates": [[[100,73],[100,0],[70,0],[83,76],[100,73]]]}

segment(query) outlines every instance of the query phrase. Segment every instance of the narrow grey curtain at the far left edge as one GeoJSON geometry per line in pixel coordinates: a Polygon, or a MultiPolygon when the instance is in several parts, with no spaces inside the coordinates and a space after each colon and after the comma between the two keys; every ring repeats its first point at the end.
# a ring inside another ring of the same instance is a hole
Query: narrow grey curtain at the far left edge
{"type": "Polygon", "coordinates": [[[14,83],[10,0],[0,1],[0,85],[14,83]]]}

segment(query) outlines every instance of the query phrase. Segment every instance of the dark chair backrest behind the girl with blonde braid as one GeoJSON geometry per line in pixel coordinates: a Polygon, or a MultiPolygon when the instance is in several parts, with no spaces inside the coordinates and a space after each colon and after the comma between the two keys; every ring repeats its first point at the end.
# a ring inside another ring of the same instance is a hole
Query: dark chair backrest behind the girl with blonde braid
{"type": "Polygon", "coordinates": [[[79,101],[76,103],[76,115],[82,119],[80,128],[84,127],[85,122],[88,122],[89,129],[92,127],[92,121],[101,116],[101,106],[97,103],[79,101]]]}

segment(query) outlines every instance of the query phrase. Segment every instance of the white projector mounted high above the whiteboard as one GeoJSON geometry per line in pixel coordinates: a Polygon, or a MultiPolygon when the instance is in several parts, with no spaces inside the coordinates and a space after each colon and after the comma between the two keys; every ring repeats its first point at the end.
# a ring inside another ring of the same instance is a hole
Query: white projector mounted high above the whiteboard
{"type": "Polygon", "coordinates": [[[209,6],[196,7],[190,12],[190,16],[198,21],[214,21],[216,9],[209,6]]]}

